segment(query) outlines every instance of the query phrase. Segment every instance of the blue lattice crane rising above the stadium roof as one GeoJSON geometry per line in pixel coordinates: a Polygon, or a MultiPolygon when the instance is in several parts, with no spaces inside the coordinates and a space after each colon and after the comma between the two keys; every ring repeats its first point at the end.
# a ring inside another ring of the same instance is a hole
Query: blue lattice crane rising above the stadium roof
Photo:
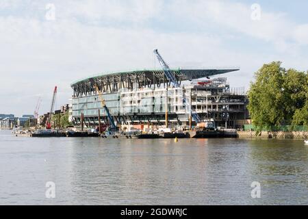
{"type": "MultiPolygon", "coordinates": [[[[158,53],[157,49],[154,49],[154,54],[157,57],[157,60],[159,62],[159,64],[162,66],[162,69],[164,70],[164,73],[167,77],[167,79],[173,84],[173,86],[175,86],[175,88],[179,88],[179,82],[177,81],[176,77],[174,74],[172,74],[168,64],[164,61],[164,59],[162,58],[162,55],[160,55],[158,53]]],[[[186,96],[185,96],[185,92],[183,92],[183,107],[185,107],[186,105],[186,96]]],[[[194,111],[191,107],[190,107],[190,112],[192,114],[192,118],[194,118],[194,121],[196,123],[200,123],[201,118],[198,116],[198,113],[196,111],[194,111]]]]}

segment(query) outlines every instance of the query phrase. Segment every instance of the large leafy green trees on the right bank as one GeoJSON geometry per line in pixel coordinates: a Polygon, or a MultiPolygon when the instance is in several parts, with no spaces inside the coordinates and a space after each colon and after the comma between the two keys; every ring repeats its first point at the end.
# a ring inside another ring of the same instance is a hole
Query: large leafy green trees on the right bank
{"type": "Polygon", "coordinates": [[[308,126],[308,72],[264,64],[248,91],[253,125],[264,129],[278,125],[308,126]]]}

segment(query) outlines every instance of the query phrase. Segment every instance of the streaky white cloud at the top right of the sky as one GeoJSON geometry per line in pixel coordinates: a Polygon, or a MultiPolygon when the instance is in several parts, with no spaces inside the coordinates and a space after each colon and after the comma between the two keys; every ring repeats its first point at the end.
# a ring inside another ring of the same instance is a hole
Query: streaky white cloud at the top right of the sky
{"type": "Polygon", "coordinates": [[[277,40],[292,39],[294,24],[286,14],[270,13],[261,5],[261,19],[251,19],[251,5],[216,0],[182,0],[174,3],[170,10],[177,14],[185,14],[187,18],[200,24],[216,23],[226,31],[237,31],[253,38],[275,43],[277,40]]]}

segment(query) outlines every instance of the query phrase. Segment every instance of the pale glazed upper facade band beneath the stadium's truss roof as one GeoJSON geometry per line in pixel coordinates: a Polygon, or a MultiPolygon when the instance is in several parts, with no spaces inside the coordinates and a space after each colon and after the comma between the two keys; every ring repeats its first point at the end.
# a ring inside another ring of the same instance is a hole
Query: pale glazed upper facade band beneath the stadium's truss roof
{"type": "MultiPolygon", "coordinates": [[[[188,94],[186,94],[188,96],[188,94]]],[[[129,92],[103,94],[103,99],[110,110],[110,114],[151,114],[164,113],[166,98],[168,98],[168,112],[186,113],[183,107],[183,90],[170,88],[166,97],[166,89],[140,89],[129,92]]],[[[99,96],[85,96],[73,99],[73,116],[97,116],[98,110],[102,116],[107,116],[101,107],[99,96]]]]}

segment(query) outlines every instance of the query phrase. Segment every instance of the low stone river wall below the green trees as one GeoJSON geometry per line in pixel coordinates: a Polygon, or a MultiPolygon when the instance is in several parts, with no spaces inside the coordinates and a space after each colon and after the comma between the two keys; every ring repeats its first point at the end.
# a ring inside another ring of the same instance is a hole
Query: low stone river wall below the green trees
{"type": "Polygon", "coordinates": [[[307,139],[308,131],[238,131],[238,138],[307,139]]]}

